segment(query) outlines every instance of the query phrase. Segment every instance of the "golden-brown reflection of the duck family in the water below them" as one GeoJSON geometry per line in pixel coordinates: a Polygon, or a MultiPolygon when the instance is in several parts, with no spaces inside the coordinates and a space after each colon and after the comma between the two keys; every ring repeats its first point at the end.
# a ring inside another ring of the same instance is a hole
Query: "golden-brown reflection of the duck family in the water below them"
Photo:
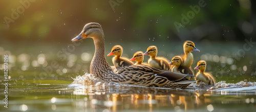
{"type": "Polygon", "coordinates": [[[111,111],[136,109],[136,110],[161,110],[164,108],[179,109],[196,109],[211,100],[206,96],[211,96],[210,92],[202,91],[182,91],[176,89],[160,89],[151,87],[136,87],[125,85],[104,85],[102,89],[94,88],[77,88],[74,95],[90,95],[89,100],[79,100],[79,107],[93,109],[109,109],[111,111]],[[122,89],[120,89],[122,88],[122,89]],[[122,90],[122,91],[120,91],[122,90]],[[89,104],[89,105],[84,105],[89,104]]]}

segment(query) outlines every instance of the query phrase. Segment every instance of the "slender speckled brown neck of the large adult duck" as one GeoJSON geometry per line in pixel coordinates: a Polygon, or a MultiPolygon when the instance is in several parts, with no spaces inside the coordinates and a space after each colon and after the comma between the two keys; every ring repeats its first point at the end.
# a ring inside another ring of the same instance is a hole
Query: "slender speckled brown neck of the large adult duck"
{"type": "Polygon", "coordinates": [[[95,53],[90,65],[90,73],[97,77],[103,78],[103,74],[112,71],[108,61],[105,58],[105,41],[104,39],[94,39],[95,53]]]}

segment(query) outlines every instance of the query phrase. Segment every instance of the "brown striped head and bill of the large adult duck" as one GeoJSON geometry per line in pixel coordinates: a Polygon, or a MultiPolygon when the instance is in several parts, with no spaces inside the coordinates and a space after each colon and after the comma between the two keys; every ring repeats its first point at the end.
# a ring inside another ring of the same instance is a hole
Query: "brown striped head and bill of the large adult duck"
{"type": "Polygon", "coordinates": [[[88,23],[86,24],[81,33],[73,38],[71,41],[79,41],[84,38],[93,38],[94,40],[104,39],[103,30],[98,23],[88,23]]]}

